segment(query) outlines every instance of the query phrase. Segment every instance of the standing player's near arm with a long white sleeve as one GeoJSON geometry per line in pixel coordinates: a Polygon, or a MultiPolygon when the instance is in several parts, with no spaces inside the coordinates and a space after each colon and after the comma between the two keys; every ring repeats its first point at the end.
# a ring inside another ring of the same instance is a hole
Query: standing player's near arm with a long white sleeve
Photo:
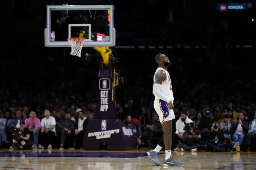
{"type": "Polygon", "coordinates": [[[170,103],[171,100],[167,98],[161,91],[161,85],[162,82],[166,79],[166,74],[163,70],[158,70],[155,75],[155,81],[153,84],[153,94],[156,95],[158,98],[160,98],[163,101],[166,101],[167,103],[170,103]]]}

